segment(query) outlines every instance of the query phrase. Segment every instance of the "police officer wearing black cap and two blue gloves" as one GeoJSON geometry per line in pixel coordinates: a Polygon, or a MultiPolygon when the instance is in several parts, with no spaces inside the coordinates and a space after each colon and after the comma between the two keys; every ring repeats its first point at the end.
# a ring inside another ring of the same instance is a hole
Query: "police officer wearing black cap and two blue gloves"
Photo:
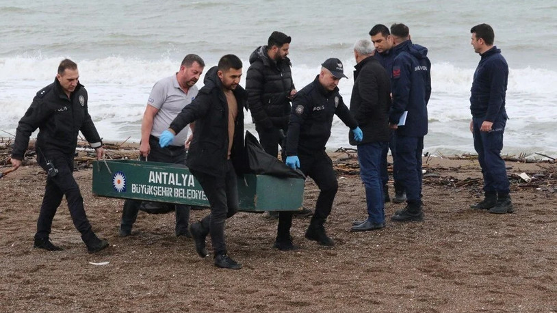
{"type": "MultiPolygon", "coordinates": [[[[306,238],[320,245],[333,246],[335,243],[326,235],[323,226],[331,213],[339,188],[333,162],[325,152],[325,144],[331,136],[333,116],[337,114],[352,129],[356,141],[361,141],[363,134],[337,88],[340,79],[346,78],[342,62],[331,58],[321,66],[321,72],[315,80],[294,96],[286,141],[286,164],[293,169],[299,167],[305,175],[313,178],[320,189],[306,238]]],[[[279,223],[276,246],[292,245],[291,226],[292,214],[288,220],[279,223]]]]}

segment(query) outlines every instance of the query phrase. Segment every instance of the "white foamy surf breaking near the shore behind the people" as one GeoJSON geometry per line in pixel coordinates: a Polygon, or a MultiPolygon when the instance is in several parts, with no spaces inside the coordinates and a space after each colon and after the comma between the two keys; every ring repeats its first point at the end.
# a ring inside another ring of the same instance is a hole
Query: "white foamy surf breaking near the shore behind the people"
{"type": "MultiPolygon", "coordinates": [[[[51,83],[60,57],[24,55],[0,58],[0,111],[3,118],[0,130],[15,133],[38,90],[51,83]]],[[[243,60],[247,63],[246,60],[243,60]]],[[[344,60],[345,68],[354,62],[344,60]]],[[[99,133],[105,139],[138,141],[146,98],[153,83],[178,70],[179,62],[170,59],[142,60],[120,56],[103,59],[83,59],[79,62],[80,81],[90,94],[90,113],[99,133]]],[[[207,64],[213,66],[214,64],[207,64]]],[[[296,87],[311,83],[320,66],[294,65],[292,74],[296,87]]],[[[343,79],[341,94],[350,103],[353,79],[343,79]]],[[[470,119],[469,89],[474,68],[460,68],[449,63],[432,65],[432,97],[428,105],[430,133],[426,150],[443,154],[473,152],[467,131],[470,119]]],[[[203,77],[198,83],[201,87],[203,77]]],[[[554,132],[557,119],[557,92],[552,82],[557,72],[539,68],[511,69],[507,92],[507,110],[511,120],[506,131],[508,153],[557,153],[554,132]]],[[[244,79],[241,82],[245,84],[244,79]]],[[[253,130],[250,114],[246,114],[246,128],[253,130]]],[[[6,135],[5,133],[3,135],[6,135]]],[[[335,118],[329,148],[348,146],[348,128],[335,118]]]]}

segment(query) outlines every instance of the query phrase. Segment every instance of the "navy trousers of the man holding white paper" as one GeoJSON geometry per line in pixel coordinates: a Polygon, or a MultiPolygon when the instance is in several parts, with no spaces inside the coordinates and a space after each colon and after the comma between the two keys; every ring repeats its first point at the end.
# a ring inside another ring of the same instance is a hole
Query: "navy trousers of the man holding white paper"
{"type": "Polygon", "coordinates": [[[422,202],[422,151],[424,137],[397,134],[396,163],[398,180],[406,191],[406,202],[418,205],[422,202]]]}

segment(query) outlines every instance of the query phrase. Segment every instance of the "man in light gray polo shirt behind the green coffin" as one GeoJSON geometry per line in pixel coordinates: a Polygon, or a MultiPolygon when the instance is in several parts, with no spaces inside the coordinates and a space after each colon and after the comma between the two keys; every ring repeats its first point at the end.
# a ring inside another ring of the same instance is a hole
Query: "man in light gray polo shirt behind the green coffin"
{"type": "MultiPolygon", "coordinates": [[[[140,159],[143,161],[185,164],[185,141],[189,128],[185,127],[174,137],[170,146],[161,148],[159,136],[168,129],[170,122],[176,118],[186,105],[197,96],[195,83],[205,68],[205,62],[198,55],[186,55],[180,70],[155,83],[141,123],[140,159]]],[[[122,237],[131,234],[131,228],[138,217],[139,200],[126,200],[122,209],[122,221],[118,234],[122,237]]],[[[190,237],[187,230],[190,221],[190,206],[176,204],[176,236],[190,237]]]]}

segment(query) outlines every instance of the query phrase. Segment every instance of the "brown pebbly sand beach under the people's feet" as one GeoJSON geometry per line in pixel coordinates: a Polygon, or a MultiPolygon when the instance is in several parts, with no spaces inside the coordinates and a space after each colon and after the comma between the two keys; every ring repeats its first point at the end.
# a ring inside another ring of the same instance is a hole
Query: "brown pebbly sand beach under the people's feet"
{"type": "MultiPolygon", "coordinates": [[[[75,178],[94,230],[111,247],[87,254],[64,201],[51,234],[64,251],[34,249],[45,177],[28,159],[0,179],[0,310],[557,312],[555,163],[508,162],[515,213],[491,215],[468,208],[482,195],[476,160],[424,157],[425,221],[388,220],[383,230],[351,233],[352,221],[365,217],[365,193],[354,155],[332,155],[339,192],[326,229],[337,245],[307,241],[309,218],[298,217],[292,235],[302,249],[278,251],[276,220],[238,213],[226,223],[226,240],[244,264],[239,271],[216,269],[192,239],[177,239],[173,213],[140,213],[133,236],[119,238],[123,200],[92,195],[87,163],[75,178]],[[517,178],[522,172],[537,176],[527,183],[517,178]]],[[[305,206],[313,208],[317,195],[307,180],[305,206]]],[[[402,207],[387,204],[387,217],[402,207]]],[[[192,211],[192,220],[207,212],[192,211]]]]}

